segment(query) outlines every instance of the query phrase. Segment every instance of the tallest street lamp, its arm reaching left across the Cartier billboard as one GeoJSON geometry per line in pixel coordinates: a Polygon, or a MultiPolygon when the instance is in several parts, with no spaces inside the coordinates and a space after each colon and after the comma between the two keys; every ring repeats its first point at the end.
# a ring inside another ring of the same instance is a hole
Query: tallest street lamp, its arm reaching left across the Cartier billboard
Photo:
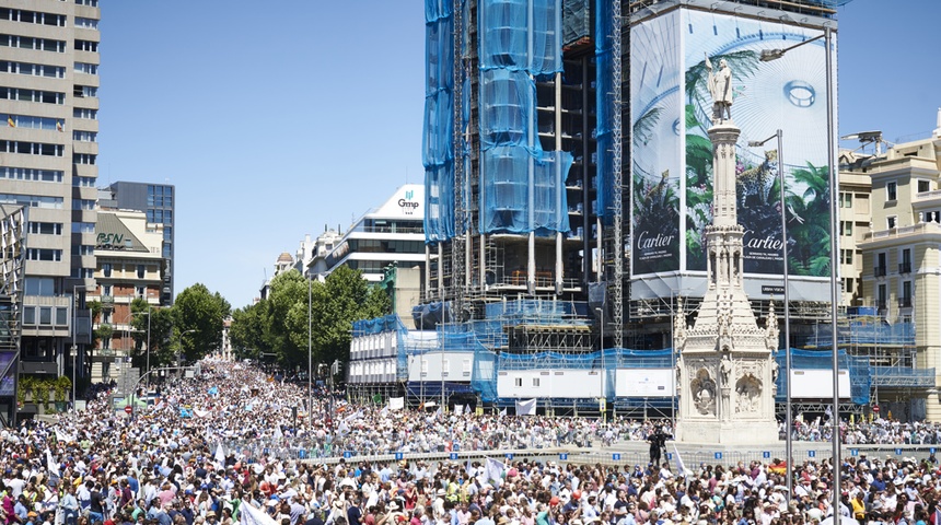
{"type": "MultiPolygon", "coordinates": [[[[833,93],[833,28],[829,25],[824,25],[824,34],[814,37],[810,40],[802,42],[794,46],[785,49],[765,49],[762,51],[762,61],[771,61],[781,58],[787,51],[810,44],[811,42],[824,38],[824,56],[826,68],[826,149],[827,149],[827,174],[829,175],[830,198],[829,198],[829,220],[830,220],[830,254],[829,254],[829,293],[830,293],[830,322],[833,323],[832,330],[832,350],[833,350],[833,469],[834,482],[839,483],[840,469],[840,450],[839,450],[839,347],[837,338],[837,315],[839,306],[839,284],[837,282],[837,270],[839,262],[837,259],[838,240],[836,232],[837,221],[839,220],[839,209],[837,208],[837,195],[839,191],[836,165],[834,163],[834,93],[833,93]]],[[[788,464],[790,464],[790,458],[788,464]]],[[[833,525],[839,525],[839,490],[833,491],[833,525]]]]}

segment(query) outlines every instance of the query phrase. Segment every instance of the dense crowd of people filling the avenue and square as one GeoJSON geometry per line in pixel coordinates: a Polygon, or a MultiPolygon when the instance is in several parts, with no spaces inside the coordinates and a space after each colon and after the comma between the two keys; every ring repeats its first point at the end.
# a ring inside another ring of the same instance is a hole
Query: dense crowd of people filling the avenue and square
{"type": "MultiPolygon", "coordinates": [[[[328,424],[329,396],[321,393],[313,422],[303,412],[295,419],[294,400],[305,395],[248,366],[209,362],[197,380],[164,385],[160,399],[133,417],[116,411],[103,393],[55,423],[2,431],[0,518],[5,525],[812,525],[833,513],[837,490],[847,520],[941,525],[933,455],[850,457],[839,479],[826,460],[794,465],[788,498],[779,460],[678,471],[659,458],[603,466],[417,454],[454,443],[496,450],[589,436],[651,439],[659,452],[670,429],[652,422],[346,406],[328,424]],[[327,464],[248,446],[291,440],[309,440],[321,455],[352,446],[363,455],[327,464]],[[402,462],[364,459],[387,451],[414,453],[402,462]]],[[[890,434],[906,428],[871,427],[890,434]]],[[[846,425],[880,435],[857,429],[846,425]]]]}

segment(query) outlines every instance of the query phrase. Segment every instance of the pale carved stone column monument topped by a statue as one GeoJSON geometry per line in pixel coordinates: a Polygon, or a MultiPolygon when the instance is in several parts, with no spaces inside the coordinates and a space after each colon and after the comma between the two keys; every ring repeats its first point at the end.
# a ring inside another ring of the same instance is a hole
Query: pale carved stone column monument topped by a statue
{"type": "Polygon", "coordinates": [[[679,417],[676,438],[700,443],[777,441],[775,381],[778,323],[774,305],[758,326],[743,287],[744,229],[737,223],[732,72],[724,60],[713,73],[707,57],[713,101],[713,220],[706,228],[707,290],[695,323],[686,325],[683,301],[674,319],[679,417]],[[683,381],[685,378],[685,381],[683,381]],[[771,385],[768,387],[767,385],[771,385]]]}

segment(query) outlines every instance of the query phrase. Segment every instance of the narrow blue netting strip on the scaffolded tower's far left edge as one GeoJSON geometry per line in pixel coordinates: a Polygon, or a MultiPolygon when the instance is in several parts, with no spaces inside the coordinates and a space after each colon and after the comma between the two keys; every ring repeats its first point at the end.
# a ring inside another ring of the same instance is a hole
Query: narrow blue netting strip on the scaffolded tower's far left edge
{"type": "Polygon", "coordinates": [[[450,0],[425,2],[425,242],[454,236],[454,18],[450,0]]]}

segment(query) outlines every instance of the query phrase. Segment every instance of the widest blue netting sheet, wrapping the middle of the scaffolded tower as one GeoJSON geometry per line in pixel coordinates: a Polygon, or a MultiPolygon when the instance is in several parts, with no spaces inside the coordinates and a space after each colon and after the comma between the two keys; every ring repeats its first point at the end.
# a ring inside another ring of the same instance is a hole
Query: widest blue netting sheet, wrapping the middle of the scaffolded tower
{"type": "Polygon", "coordinates": [[[481,0],[480,232],[568,232],[568,152],[543,151],[536,78],[562,71],[561,0],[481,0]]]}

